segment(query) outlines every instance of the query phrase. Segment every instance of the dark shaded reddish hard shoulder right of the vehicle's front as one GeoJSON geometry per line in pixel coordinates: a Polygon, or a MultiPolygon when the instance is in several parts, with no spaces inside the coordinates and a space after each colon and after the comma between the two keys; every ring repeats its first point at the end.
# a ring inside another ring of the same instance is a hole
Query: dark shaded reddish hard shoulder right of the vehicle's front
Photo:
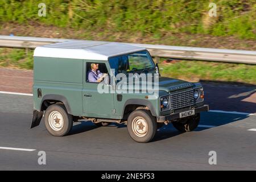
{"type": "Polygon", "coordinates": [[[200,82],[204,86],[205,104],[209,104],[211,110],[256,113],[256,85],[226,81],[200,82]]]}

